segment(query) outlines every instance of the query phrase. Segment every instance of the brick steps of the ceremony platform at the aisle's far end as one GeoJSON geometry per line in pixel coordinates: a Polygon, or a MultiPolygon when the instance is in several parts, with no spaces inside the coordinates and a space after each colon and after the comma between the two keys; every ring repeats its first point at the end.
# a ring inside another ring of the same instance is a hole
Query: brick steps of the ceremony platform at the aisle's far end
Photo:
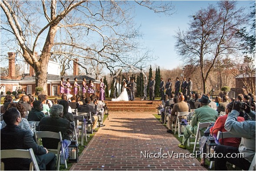
{"type": "Polygon", "coordinates": [[[156,108],[161,104],[161,101],[135,99],[135,101],[112,102],[105,100],[105,103],[111,112],[157,112],[156,108]]]}

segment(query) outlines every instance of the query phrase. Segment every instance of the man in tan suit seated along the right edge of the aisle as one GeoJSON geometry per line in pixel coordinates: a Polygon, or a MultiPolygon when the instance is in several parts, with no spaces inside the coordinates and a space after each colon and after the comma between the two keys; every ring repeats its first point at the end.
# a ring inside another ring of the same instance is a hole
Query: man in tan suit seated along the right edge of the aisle
{"type": "Polygon", "coordinates": [[[168,133],[173,133],[172,132],[172,123],[176,122],[177,119],[177,112],[188,112],[188,105],[186,102],[184,102],[184,96],[180,95],[179,96],[179,102],[175,103],[173,106],[173,109],[171,110],[171,113],[168,115],[168,122],[167,122],[167,132],[168,133]]]}

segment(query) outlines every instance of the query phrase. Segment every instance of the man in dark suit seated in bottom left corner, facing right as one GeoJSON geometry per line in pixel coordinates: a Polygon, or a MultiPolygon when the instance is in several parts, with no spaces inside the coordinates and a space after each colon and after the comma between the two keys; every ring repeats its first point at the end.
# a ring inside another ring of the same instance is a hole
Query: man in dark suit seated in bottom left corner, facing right
{"type": "MultiPolygon", "coordinates": [[[[1,150],[9,149],[33,149],[36,156],[36,161],[40,170],[55,170],[56,156],[48,152],[46,148],[36,144],[29,130],[21,129],[19,123],[21,122],[20,112],[12,107],[3,114],[3,119],[7,126],[1,129],[1,150]]],[[[6,158],[2,159],[5,170],[21,171],[29,170],[31,159],[25,158],[6,158]]]]}

